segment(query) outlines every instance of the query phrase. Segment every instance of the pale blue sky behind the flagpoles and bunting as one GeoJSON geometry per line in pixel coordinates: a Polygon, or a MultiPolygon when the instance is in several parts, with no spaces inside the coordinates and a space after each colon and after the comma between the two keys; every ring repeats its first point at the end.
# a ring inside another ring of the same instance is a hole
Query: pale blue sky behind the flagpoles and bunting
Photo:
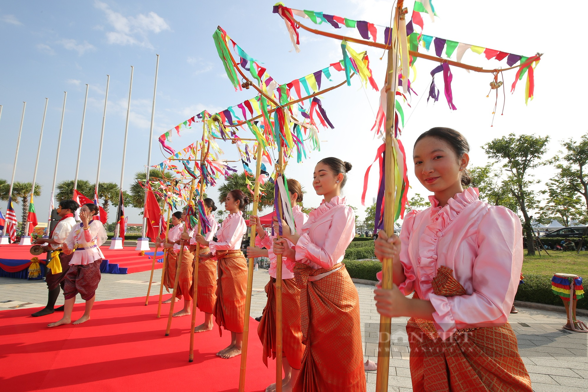
{"type": "MultiPolygon", "coordinates": [[[[586,98],[582,86],[576,87],[578,82],[583,83],[583,70],[573,66],[582,64],[586,54],[577,48],[579,42],[568,39],[583,36],[580,13],[566,12],[566,21],[562,22],[554,18],[549,2],[534,2],[530,6],[522,1],[497,1],[493,7],[486,2],[479,3],[435,1],[440,17],[434,24],[425,18],[425,33],[527,56],[535,52],[546,53],[536,70],[535,99],[528,106],[524,105],[524,80],[514,95],[510,95],[508,88],[505,115],[497,115],[490,128],[493,99],[486,98],[486,94],[491,75],[452,70],[454,103],[458,108],[453,112],[447,108],[443,93],[435,105],[420,99],[422,93],[428,91],[429,72],[437,65],[420,59],[417,79],[413,83],[419,97],[413,96],[413,107],[405,108],[407,118],[410,118],[402,140],[410,151],[410,146],[424,130],[432,126],[451,126],[469,139],[472,165],[483,165],[486,163],[480,149],[483,143],[510,132],[534,132],[552,135],[548,153],[552,156],[559,149],[560,139],[578,137],[586,132],[585,125],[579,122],[579,113],[584,112],[582,102],[585,103],[586,98]],[[549,27],[563,23],[564,28],[549,27]],[[562,35],[563,31],[568,33],[562,35]]],[[[35,199],[39,221],[46,220],[63,92],[68,92],[68,100],[58,182],[74,178],[85,83],[89,83],[79,177],[95,181],[108,73],[111,79],[100,179],[118,183],[130,66],[133,65],[135,75],[125,167],[125,187],[128,188],[133,173],[143,170],[146,165],[156,53],[161,58],[152,164],[166,158],[159,152],[156,140],[161,133],[203,109],[214,112],[252,98],[251,90],[235,92],[226,78],[212,41],[217,25],[222,26],[249,55],[263,62],[281,83],[318,71],[341,58],[338,41],[304,31],[300,32],[302,51],[290,51],[285,25],[279,16],[272,14],[272,5],[273,2],[269,1],[3,2],[0,5],[0,35],[3,37],[0,46],[3,58],[0,63],[0,105],[3,105],[0,177],[10,180],[22,101],[26,101],[16,180],[32,181],[45,97],[49,98],[37,176],[37,182],[44,186],[44,190],[42,196],[35,199]]],[[[387,25],[392,2],[340,0],[319,4],[296,1],[286,2],[286,5],[387,25]]],[[[406,5],[410,9],[412,2],[406,2],[406,5]]],[[[312,24],[308,19],[305,23],[312,24]]],[[[324,29],[334,31],[330,26],[324,29]]],[[[343,28],[340,32],[356,35],[352,29],[343,28]]],[[[353,47],[357,51],[365,50],[360,45],[353,47]]],[[[369,48],[368,52],[375,79],[382,86],[385,71],[385,59],[379,60],[382,51],[369,48]]],[[[463,62],[486,68],[497,65],[496,61],[486,61],[471,52],[466,53],[463,62]]],[[[514,75],[513,71],[505,72],[507,86],[512,83],[514,75]]],[[[333,79],[342,81],[340,75],[333,79]]],[[[442,89],[439,77],[436,82],[442,89]]],[[[502,92],[500,95],[499,105],[502,105],[502,92]]],[[[327,140],[322,143],[322,150],[313,152],[305,163],[292,164],[288,168],[289,176],[299,179],[310,191],[305,195],[308,205],[320,203],[320,198],[312,192],[313,165],[326,156],[338,156],[353,164],[345,194],[349,203],[363,212],[359,200],[363,175],[380,144],[370,133],[378,96],[376,92],[364,90],[355,81],[350,87],[322,97],[335,129],[321,130],[320,138],[327,140]]],[[[186,132],[182,138],[174,138],[172,145],[180,149],[198,136],[195,130],[186,132]]],[[[235,158],[236,153],[229,145],[224,149],[227,159],[235,158]]],[[[542,170],[537,173],[540,177],[550,175],[549,169],[542,170]]],[[[412,165],[409,162],[410,172],[412,165]]],[[[374,172],[372,177],[377,179],[377,173],[374,172]]],[[[411,193],[427,195],[414,176],[411,180],[411,193]]],[[[375,193],[375,181],[370,181],[369,201],[375,193]]],[[[209,194],[216,195],[214,190],[209,194]]],[[[139,222],[136,210],[129,209],[127,215],[129,222],[139,222]]]]}

